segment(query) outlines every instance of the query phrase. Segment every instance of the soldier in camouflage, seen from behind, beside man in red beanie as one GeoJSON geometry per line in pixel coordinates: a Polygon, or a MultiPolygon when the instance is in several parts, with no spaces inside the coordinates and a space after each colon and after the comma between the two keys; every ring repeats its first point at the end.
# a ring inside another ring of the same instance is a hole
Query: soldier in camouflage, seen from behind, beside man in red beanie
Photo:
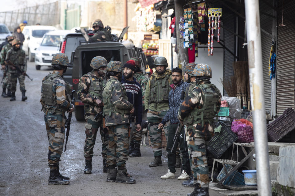
{"type": "Polygon", "coordinates": [[[135,183],[127,174],[128,160],[128,115],[134,113],[134,107],[128,101],[125,87],[119,81],[122,78],[123,64],[111,61],[107,66],[108,80],[103,89],[105,126],[108,128],[107,182],[135,183]],[[118,173],[116,171],[118,166],[118,173]]]}

